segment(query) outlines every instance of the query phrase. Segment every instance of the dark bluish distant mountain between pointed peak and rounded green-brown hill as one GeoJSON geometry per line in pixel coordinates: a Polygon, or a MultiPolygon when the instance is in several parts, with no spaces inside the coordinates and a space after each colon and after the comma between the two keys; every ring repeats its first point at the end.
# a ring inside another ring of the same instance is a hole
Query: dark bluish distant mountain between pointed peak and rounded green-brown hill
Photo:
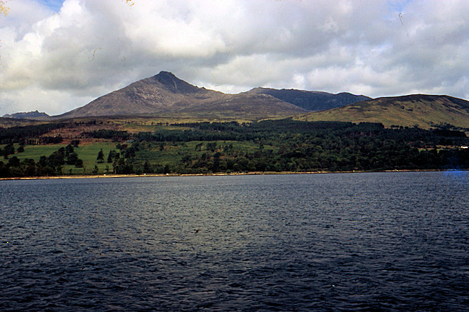
{"type": "Polygon", "coordinates": [[[342,107],[360,101],[370,100],[364,95],[354,95],[348,92],[331,94],[328,92],[305,91],[294,89],[270,89],[266,87],[255,87],[248,91],[251,94],[269,94],[281,101],[297,105],[305,110],[319,111],[330,110],[335,107],[342,107]]]}

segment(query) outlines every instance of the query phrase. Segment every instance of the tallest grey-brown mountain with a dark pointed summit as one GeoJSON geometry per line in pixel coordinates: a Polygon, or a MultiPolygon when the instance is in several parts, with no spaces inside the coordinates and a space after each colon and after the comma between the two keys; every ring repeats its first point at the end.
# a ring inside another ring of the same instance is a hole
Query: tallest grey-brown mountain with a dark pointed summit
{"type": "Polygon", "coordinates": [[[224,94],[196,87],[170,72],[142,79],[54,118],[88,116],[188,116],[273,118],[305,112],[266,94],[224,94]]]}

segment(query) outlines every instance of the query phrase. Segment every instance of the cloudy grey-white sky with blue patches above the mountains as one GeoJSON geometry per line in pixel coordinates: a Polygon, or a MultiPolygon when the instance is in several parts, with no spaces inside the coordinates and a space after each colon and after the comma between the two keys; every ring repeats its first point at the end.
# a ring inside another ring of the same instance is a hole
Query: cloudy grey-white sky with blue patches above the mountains
{"type": "Polygon", "coordinates": [[[274,87],[469,99],[466,0],[2,5],[0,116],[62,114],[160,71],[226,93],[274,87]]]}

